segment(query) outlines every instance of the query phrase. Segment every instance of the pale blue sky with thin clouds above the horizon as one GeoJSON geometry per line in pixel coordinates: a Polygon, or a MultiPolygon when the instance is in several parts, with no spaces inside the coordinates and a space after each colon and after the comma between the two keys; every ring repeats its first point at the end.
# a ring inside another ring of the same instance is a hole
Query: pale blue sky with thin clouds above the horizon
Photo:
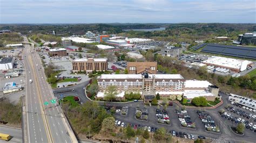
{"type": "Polygon", "coordinates": [[[0,23],[256,23],[256,0],[0,0],[0,23]]]}

